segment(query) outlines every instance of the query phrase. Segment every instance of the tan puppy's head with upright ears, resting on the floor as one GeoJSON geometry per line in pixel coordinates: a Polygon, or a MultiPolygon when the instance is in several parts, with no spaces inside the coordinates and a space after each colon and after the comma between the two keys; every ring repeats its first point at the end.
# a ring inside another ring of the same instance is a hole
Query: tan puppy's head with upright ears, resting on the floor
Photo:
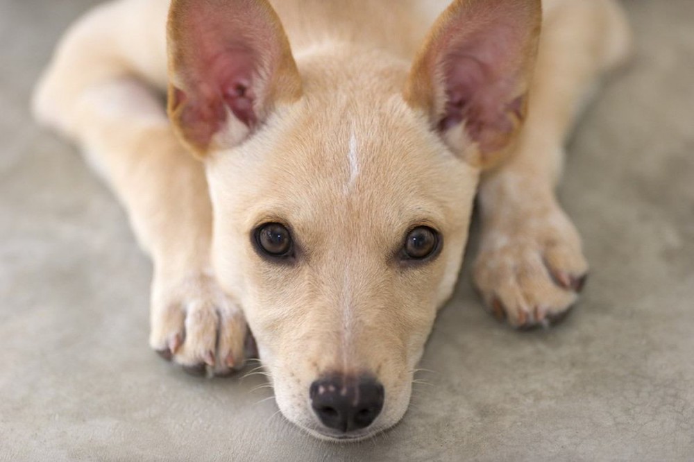
{"type": "Polygon", "coordinates": [[[360,438],[405,413],[480,169],[525,117],[539,24],[539,0],[460,0],[414,64],[339,44],[295,60],[264,0],[174,1],[169,114],[289,420],[360,438]]]}

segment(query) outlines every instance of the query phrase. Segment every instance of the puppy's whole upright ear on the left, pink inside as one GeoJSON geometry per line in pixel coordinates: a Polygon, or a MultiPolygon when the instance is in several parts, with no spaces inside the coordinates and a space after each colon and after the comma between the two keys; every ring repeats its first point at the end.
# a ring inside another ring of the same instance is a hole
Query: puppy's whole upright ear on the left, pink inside
{"type": "Polygon", "coordinates": [[[301,97],[289,40],[266,0],[174,0],[169,117],[197,155],[234,146],[301,97]]]}

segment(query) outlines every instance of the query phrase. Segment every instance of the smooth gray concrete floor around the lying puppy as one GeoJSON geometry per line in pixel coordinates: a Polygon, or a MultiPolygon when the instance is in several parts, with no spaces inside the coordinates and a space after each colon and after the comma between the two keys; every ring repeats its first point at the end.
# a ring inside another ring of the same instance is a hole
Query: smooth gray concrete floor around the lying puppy
{"type": "Polygon", "coordinates": [[[149,262],[27,109],[93,3],[0,0],[1,460],[694,460],[693,1],[625,1],[638,55],[571,143],[561,199],[593,267],[577,310],[514,332],[466,269],[423,359],[432,385],[350,446],[289,425],[257,377],[195,379],[149,351],[149,262]]]}

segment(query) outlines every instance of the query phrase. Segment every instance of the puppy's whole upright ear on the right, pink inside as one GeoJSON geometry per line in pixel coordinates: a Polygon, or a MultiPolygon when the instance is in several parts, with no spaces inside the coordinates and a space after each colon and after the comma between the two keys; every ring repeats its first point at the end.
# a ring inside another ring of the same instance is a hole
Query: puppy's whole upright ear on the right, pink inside
{"type": "Polygon", "coordinates": [[[414,60],[405,101],[480,167],[509,150],[527,112],[541,0],[456,0],[414,60]]]}

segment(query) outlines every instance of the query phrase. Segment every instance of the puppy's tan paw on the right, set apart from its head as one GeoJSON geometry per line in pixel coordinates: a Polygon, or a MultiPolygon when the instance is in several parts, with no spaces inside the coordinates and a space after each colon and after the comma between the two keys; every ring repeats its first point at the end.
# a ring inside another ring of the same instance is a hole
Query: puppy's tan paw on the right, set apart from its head
{"type": "Polygon", "coordinates": [[[474,278],[496,318],[518,328],[558,322],[583,289],[588,264],[557,205],[510,212],[482,234],[474,278]]]}

